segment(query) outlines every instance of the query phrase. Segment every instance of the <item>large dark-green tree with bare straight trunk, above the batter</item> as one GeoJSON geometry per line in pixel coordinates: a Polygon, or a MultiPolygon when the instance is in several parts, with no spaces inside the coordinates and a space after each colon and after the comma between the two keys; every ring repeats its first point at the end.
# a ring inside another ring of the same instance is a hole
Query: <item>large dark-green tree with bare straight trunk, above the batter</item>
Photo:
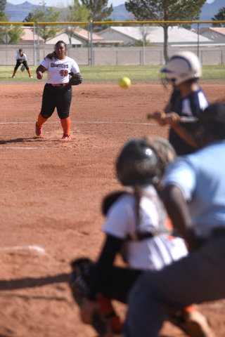
{"type": "MultiPolygon", "coordinates": [[[[200,10],[206,0],[129,0],[125,2],[127,11],[134,14],[135,20],[174,21],[198,20],[200,10]]],[[[168,58],[168,27],[172,24],[159,24],[164,30],[164,58],[168,58]]]]}

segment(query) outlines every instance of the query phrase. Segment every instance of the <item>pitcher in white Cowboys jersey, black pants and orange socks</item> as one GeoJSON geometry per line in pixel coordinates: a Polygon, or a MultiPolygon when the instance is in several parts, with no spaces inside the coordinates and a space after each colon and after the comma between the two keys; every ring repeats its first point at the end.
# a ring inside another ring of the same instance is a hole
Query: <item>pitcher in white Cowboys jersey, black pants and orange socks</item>
{"type": "Polygon", "coordinates": [[[36,123],[36,136],[43,137],[42,126],[51,117],[55,108],[63,128],[63,138],[71,140],[70,136],[70,104],[72,100],[72,87],[69,84],[70,72],[79,73],[77,62],[66,55],[66,44],[58,41],[55,51],[50,53],[37,67],[37,79],[43,78],[47,72],[47,81],[42,96],[41,112],[36,123]]]}

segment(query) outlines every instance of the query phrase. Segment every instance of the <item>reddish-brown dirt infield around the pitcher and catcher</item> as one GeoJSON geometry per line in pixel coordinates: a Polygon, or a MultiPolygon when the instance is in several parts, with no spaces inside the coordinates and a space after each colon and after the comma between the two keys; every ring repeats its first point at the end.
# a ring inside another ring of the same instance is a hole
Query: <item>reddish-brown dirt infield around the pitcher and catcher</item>
{"type": "MultiPolygon", "coordinates": [[[[97,258],[101,200],[121,188],[114,171],[117,153],[129,137],[167,138],[167,128],[151,124],[146,114],[162,109],[169,93],[153,84],[125,91],[115,84],[82,84],[73,89],[72,141],[61,143],[56,112],[44,125],[44,139],[34,139],[43,87],[44,82],[2,85],[0,91],[0,336],[94,337],[91,326],[80,323],[65,282],[70,260],[97,258]],[[45,253],[27,247],[32,245],[45,253]]],[[[203,89],[210,103],[224,98],[225,84],[203,89]]],[[[124,315],[125,308],[116,305],[124,315]]],[[[225,300],[200,309],[217,337],[224,336],[225,300]]],[[[162,336],[186,335],[166,323],[162,336]]]]}

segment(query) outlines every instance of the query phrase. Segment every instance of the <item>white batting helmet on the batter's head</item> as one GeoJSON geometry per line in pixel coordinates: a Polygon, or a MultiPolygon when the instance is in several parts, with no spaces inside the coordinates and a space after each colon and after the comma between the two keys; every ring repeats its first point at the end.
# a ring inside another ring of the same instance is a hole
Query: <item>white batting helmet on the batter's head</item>
{"type": "Polygon", "coordinates": [[[177,86],[189,79],[198,79],[201,76],[201,65],[198,57],[191,51],[181,51],[169,59],[161,72],[177,86]]]}

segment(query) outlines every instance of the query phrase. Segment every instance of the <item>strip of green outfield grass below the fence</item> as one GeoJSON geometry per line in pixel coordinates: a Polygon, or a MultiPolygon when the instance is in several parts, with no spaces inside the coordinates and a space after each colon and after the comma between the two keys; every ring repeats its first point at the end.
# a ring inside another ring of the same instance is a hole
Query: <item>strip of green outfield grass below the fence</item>
{"type": "MultiPolygon", "coordinates": [[[[13,66],[0,67],[0,84],[1,81],[26,81],[29,80],[27,70],[20,72],[20,69],[15,74],[15,79],[12,79],[13,66]]],[[[30,81],[38,81],[35,70],[37,67],[30,67],[33,78],[30,81]]],[[[84,81],[118,81],[120,77],[127,76],[131,81],[158,81],[160,75],[160,69],[162,66],[155,65],[117,65],[117,66],[81,66],[80,71],[84,78],[84,81]]],[[[46,79],[46,74],[44,74],[46,79]]],[[[225,65],[203,65],[203,80],[204,79],[218,79],[219,81],[225,81],[225,65]]]]}

